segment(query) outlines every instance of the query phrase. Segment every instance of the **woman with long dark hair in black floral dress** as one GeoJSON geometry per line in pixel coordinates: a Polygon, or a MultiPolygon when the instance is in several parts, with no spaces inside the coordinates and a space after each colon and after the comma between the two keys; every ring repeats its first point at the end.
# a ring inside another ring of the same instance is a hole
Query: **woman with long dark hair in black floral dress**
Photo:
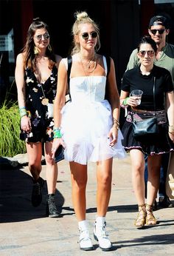
{"type": "Polygon", "coordinates": [[[53,52],[48,25],[40,18],[34,18],[29,26],[24,50],[16,58],[15,82],[21,115],[21,139],[26,141],[33,182],[32,206],[39,206],[42,201],[44,179],[40,174],[44,143],[48,188],[46,215],[49,217],[60,215],[55,205],[58,166],[52,159],[53,101],[60,59],[53,52]]]}

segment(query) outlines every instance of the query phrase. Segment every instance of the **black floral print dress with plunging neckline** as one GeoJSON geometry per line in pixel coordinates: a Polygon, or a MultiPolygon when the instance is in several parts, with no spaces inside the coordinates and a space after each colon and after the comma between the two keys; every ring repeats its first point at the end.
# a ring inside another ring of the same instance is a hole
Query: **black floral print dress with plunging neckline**
{"type": "Polygon", "coordinates": [[[52,104],[55,99],[58,68],[54,66],[49,78],[40,83],[35,73],[27,68],[24,80],[26,82],[26,109],[31,120],[32,131],[29,134],[24,132],[21,139],[28,142],[52,141],[53,139],[53,118],[49,118],[47,103],[52,104]]]}

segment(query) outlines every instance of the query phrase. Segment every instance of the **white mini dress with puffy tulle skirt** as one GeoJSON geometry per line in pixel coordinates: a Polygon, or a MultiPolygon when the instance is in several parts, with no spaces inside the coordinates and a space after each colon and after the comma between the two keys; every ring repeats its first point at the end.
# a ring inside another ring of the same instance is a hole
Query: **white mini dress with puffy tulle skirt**
{"type": "MultiPolygon", "coordinates": [[[[67,58],[63,58],[67,69],[67,58]]],[[[73,61],[73,56],[72,56],[73,61]]],[[[105,100],[107,65],[103,56],[105,76],[70,78],[72,101],[63,107],[61,133],[66,145],[65,160],[86,165],[108,158],[125,158],[122,132],[118,141],[109,146],[108,132],[113,125],[111,105],[105,100]]]]}

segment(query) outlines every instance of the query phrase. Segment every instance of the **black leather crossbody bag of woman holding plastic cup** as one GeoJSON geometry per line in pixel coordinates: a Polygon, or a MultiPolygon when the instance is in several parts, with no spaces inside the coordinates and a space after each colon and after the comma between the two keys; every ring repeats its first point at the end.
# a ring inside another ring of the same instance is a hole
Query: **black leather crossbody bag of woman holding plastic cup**
{"type": "MultiPolygon", "coordinates": [[[[156,86],[156,78],[154,77],[153,82],[153,106],[154,110],[156,111],[156,98],[155,98],[155,86],[156,86]]],[[[156,136],[159,134],[159,125],[158,120],[155,117],[147,118],[142,121],[133,121],[133,113],[131,114],[132,117],[132,129],[133,129],[133,137],[136,139],[139,138],[147,138],[156,136]]]]}

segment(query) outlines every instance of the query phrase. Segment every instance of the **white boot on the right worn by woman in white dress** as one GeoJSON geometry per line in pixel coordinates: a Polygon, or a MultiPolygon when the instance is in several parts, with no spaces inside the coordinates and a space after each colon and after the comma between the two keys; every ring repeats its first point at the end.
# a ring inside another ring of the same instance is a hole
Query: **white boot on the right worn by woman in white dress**
{"type": "Polygon", "coordinates": [[[94,239],[99,242],[99,247],[102,251],[111,251],[112,243],[108,238],[108,232],[105,230],[106,223],[103,226],[99,226],[97,221],[94,227],[94,239]]]}

